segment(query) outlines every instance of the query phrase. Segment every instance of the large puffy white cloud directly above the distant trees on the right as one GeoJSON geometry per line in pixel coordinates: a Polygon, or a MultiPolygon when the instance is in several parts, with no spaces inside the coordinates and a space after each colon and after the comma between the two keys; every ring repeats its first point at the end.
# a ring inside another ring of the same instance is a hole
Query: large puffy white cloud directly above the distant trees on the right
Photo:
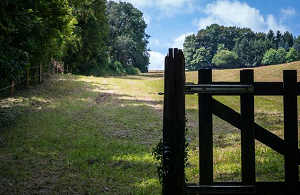
{"type": "Polygon", "coordinates": [[[269,29],[287,30],[287,27],[282,22],[277,22],[273,15],[268,15],[265,19],[258,9],[237,0],[218,0],[209,3],[204,12],[207,17],[200,18],[198,23],[200,29],[217,23],[224,26],[248,27],[256,32],[267,32],[269,29]]]}

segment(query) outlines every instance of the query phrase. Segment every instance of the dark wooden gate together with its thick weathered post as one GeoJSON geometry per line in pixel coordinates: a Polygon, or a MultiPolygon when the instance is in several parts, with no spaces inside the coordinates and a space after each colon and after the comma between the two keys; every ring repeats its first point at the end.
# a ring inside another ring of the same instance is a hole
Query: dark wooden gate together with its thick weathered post
{"type": "Polygon", "coordinates": [[[185,83],[181,50],[165,59],[163,113],[163,194],[300,194],[296,70],[284,70],[283,82],[254,82],[253,70],[240,72],[240,82],[213,82],[211,69],[198,71],[198,84],[185,83]],[[184,174],[185,94],[199,96],[199,184],[186,184],[184,174]],[[215,100],[240,96],[241,114],[215,100]],[[254,96],[283,96],[284,140],[254,122],[254,96]],[[213,181],[212,114],[241,130],[242,182],[213,181]],[[284,182],[256,182],[255,139],[284,155],[284,182]]]}

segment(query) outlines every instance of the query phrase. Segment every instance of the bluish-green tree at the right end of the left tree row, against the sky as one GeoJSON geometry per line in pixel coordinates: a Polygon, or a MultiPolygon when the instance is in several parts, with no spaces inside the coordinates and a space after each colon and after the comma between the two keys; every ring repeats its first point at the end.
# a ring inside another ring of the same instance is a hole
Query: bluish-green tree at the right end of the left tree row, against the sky
{"type": "Polygon", "coordinates": [[[109,22],[109,57],[119,61],[125,69],[139,68],[148,71],[149,35],[143,13],[130,3],[109,1],[107,3],[109,22]]]}

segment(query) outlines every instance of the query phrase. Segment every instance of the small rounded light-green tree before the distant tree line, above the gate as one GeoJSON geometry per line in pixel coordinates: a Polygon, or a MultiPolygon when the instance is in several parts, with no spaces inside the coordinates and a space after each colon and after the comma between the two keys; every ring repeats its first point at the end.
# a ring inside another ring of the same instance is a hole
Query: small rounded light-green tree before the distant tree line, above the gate
{"type": "Polygon", "coordinates": [[[238,68],[239,57],[235,52],[229,50],[221,50],[216,53],[212,59],[212,63],[219,68],[238,68]]]}

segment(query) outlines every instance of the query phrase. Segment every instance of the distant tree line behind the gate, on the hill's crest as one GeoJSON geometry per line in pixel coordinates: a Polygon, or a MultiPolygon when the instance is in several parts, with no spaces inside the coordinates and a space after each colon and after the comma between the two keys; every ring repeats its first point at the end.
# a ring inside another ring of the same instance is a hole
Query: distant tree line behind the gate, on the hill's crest
{"type": "Polygon", "coordinates": [[[188,70],[257,67],[300,59],[300,36],[288,31],[263,33],[212,24],[187,36],[183,46],[188,70]]]}

